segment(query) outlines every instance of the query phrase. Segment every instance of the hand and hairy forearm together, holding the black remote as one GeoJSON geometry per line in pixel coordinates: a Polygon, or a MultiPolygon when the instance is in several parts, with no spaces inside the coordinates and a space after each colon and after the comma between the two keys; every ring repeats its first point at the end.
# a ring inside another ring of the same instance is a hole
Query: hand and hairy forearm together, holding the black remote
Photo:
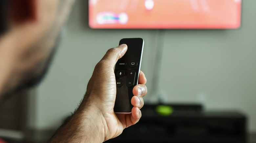
{"type": "Polygon", "coordinates": [[[80,106],[50,142],[103,142],[120,135],[123,129],[139,121],[140,108],[144,105],[142,97],[147,94],[146,78],[142,71],[139,84],[133,88],[132,113],[114,113],[117,91],[114,66],[126,51],[125,44],[107,51],[94,69],[80,106]]]}

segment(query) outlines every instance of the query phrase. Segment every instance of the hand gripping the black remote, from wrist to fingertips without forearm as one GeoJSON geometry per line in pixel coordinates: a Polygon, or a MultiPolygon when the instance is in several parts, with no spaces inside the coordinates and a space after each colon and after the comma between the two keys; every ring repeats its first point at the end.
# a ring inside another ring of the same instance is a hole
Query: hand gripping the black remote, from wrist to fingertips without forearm
{"type": "Polygon", "coordinates": [[[127,51],[127,45],[109,49],[98,62],[87,86],[83,102],[95,105],[102,114],[104,123],[104,141],[120,135],[124,128],[137,123],[141,117],[140,108],[144,105],[142,97],[147,94],[146,78],[142,71],[139,74],[139,85],[133,88],[135,95],[131,103],[132,114],[115,114],[116,78],[114,66],[119,58],[127,51]]]}

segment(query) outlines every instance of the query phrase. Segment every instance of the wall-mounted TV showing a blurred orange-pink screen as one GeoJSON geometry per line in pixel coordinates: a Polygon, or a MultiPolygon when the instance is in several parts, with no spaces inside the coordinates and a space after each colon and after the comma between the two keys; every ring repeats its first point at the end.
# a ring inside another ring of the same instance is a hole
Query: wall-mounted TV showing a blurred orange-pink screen
{"type": "Polygon", "coordinates": [[[89,0],[96,29],[236,29],[242,0],[89,0]]]}

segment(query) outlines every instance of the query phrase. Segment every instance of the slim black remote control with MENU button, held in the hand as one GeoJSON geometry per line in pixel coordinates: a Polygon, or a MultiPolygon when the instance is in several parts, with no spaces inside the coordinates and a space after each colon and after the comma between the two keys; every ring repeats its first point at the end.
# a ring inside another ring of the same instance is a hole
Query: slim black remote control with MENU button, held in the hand
{"type": "Polygon", "coordinates": [[[115,66],[117,96],[114,107],[115,113],[128,114],[132,112],[131,99],[133,87],[138,85],[138,77],[144,40],[141,38],[121,39],[119,45],[126,44],[127,52],[121,57],[115,66]]]}

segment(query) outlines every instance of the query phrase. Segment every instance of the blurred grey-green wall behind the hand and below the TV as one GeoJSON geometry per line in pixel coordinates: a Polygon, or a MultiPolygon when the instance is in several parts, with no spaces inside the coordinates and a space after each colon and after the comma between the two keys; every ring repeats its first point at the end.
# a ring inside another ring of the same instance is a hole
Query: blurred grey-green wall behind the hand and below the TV
{"type": "Polygon", "coordinates": [[[237,30],[93,30],[87,24],[87,6],[84,0],[76,2],[52,68],[37,89],[32,128],[59,126],[79,104],[107,49],[122,38],[141,37],[146,103],[160,98],[165,103],[202,103],[206,110],[237,109],[248,116],[249,130],[256,131],[255,0],[243,1],[237,30]]]}

